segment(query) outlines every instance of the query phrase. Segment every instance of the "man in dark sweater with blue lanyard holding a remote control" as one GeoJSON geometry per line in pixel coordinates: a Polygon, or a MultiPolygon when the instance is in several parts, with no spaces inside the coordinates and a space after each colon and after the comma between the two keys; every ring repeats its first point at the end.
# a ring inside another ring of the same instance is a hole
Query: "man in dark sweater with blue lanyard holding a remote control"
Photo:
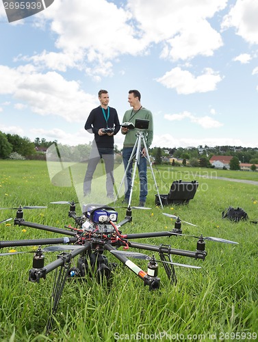
{"type": "Polygon", "coordinates": [[[102,158],[105,161],[105,172],[107,174],[107,197],[113,198],[114,135],[120,129],[120,123],[116,109],[108,106],[109,95],[107,90],[99,91],[99,101],[101,105],[92,109],[84,127],[89,133],[94,133],[94,140],[83,182],[83,194],[84,196],[90,194],[92,176],[102,158]]]}

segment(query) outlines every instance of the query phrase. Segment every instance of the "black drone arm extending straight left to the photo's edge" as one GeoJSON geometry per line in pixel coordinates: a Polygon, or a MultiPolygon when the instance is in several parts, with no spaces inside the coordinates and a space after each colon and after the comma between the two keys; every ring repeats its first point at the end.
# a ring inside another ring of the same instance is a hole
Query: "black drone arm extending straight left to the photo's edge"
{"type": "Polygon", "coordinates": [[[14,240],[0,241],[0,248],[17,247],[17,246],[41,246],[55,244],[73,244],[77,242],[77,237],[60,237],[56,239],[31,239],[31,240],[14,240]]]}

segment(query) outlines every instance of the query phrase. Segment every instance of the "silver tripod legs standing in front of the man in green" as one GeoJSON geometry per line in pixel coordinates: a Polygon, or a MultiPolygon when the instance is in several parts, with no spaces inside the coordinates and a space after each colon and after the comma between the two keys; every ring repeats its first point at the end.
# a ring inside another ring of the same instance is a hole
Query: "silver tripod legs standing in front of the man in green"
{"type": "MultiPolygon", "coordinates": [[[[153,167],[151,165],[151,159],[150,159],[148,148],[146,146],[146,142],[145,142],[145,139],[144,139],[144,133],[142,132],[142,130],[140,130],[140,131],[138,131],[138,133],[136,133],[136,136],[137,136],[136,143],[133,146],[133,150],[131,152],[131,156],[130,156],[130,159],[128,161],[127,168],[125,169],[125,174],[122,177],[122,181],[121,181],[119,189],[118,189],[118,194],[119,194],[120,189],[122,187],[122,183],[124,183],[125,177],[127,176],[127,170],[129,169],[130,163],[133,160],[133,158],[135,157],[136,159],[135,159],[134,166],[133,166],[133,173],[132,173],[131,187],[130,187],[130,196],[129,196],[129,202],[128,202],[128,206],[130,207],[131,206],[131,196],[133,194],[133,183],[134,183],[134,180],[136,178],[136,167],[140,163],[141,146],[143,144],[143,146],[145,148],[145,151],[146,151],[146,156],[144,155],[144,158],[146,158],[146,160],[148,161],[149,166],[151,168],[151,173],[153,175],[153,181],[154,181],[155,187],[157,189],[157,196],[159,197],[159,202],[160,202],[160,205],[161,205],[161,207],[163,209],[162,199],[160,198],[160,195],[159,195],[159,189],[158,189],[157,182],[156,182],[156,179],[155,179],[155,175],[154,175],[154,172],[153,172],[153,167]]],[[[116,196],[116,199],[114,200],[114,202],[116,202],[117,198],[118,198],[118,195],[116,196]]]]}

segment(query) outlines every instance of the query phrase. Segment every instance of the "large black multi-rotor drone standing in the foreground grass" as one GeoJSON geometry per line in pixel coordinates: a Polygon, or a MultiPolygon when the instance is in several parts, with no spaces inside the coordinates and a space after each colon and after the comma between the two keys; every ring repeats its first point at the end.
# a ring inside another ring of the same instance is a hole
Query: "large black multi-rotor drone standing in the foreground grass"
{"type": "MultiPolygon", "coordinates": [[[[14,224],[18,226],[27,226],[31,228],[41,229],[65,235],[60,238],[51,239],[24,239],[14,241],[0,241],[0,248],[10,248],[18,246],[38,246],[36,252],[34,251],[32,268],[29,270],[29,281],[40,282],[41,278],[46,278],[47,274],[55,270],[55,278],[53,283],[53,293],[51,300],[51,309],[49,321],[47,323],[47,331],[51,328],[53,315],[57,311],[57,306],[60,302],[62,291],[65,282],[68,278],[82,278],[87,280],[88,276],[96,276],[98,282],[104,279],[107,282],[111,281],[112,270],[116,267],[116,263],[110,263],[107,258],[107,252],[111,253],[118,261],[127,266],[134,274],[136,274],[143,282],[144,286],[149,287],[149,290],[159,289],[160,278],[158,277],[158,263],[164,267],[166,275],[171,283],[177,283],[177,276],[175,273],[175,266],[201,268],[196,265],[185,265],[182,263],[175,263],[172,261],[172,255],[181,257],[189,257],[192,259],[205,260],[207,252],[205,250],[205,241],[217,241],[227,244],[237,244],[237,242],[221,239],[218,237],[200,237],[191,236],[197,239],[196,250],[181,250],[171,248],[170,245],[160,244],[155,246],[152,244],[144,244],[134,242],[134,239],[145,239],[149,237],[171,237],[173,235],[185,235],[181,229],[181,223],[185,222],[195,226],[190,222],[181,220],[175,215],[164,213],[164,215],[175,218],[175,228],[171,231],[159,231],[154,233],[131,233],[123,234],[121,227],[132,221],[132,209],[137,207],[127,207],[125,219],[118,222],[118,212],[107,205],[83,205],[82,215],[77,215],[75,205],[76,202],[51,202],[53,204],[67,204],[70,205],[68,217],[75,222],[74,226],[65,226],[66,229],[57,228],[54,226],[47,226],[44,224],[37,224],[34,222],[27,222],[23,218],[23,209],[37,209],[46,207],[18,207],[8,208],[16,210],[16,218],[14,224]],[[48,245],[48,246],[47,246],[48,245]],[[47,246],[42,248],[42,246],[47,246]],[[119,250],[122,248],[122,250],[119,250]],[[150,257],[147,254],[140,252],[129,251],[130,248],[137,250],[146,250],[153,252],[150,257]],[[60,252],[57,259],[48,265],[44,265],[44,253],[46,252],[60,252]],[[155,258],[156,252],[160,260],[155,258]],[[73,267],[72,262],[78,256],[77,266],[73,267]],[[148,261],[146,271],[133,263],[130,259],[143,259],[148,261]]],[[[6,208],[1,208],[6,209],[6,208]]],[[[148,208],[140,208],[148,209],[148,208]]],[[[150,209],[150,208],[149,208],[150,209]]],[[[12,219],[3,220],[0,222],[8,222],[12,219]]],[[[31,252],[31,251],[29,251],[31,252]]],[[[1,253],[0,256],[10,254],[19,254],[26,252],[7,252],[1,253]]]]}

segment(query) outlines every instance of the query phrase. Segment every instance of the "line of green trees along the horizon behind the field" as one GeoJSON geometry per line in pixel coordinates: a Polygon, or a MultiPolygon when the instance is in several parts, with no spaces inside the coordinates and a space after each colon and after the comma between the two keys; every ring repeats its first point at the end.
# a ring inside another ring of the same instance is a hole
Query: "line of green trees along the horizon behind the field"
{"type": "MultiPolygon", "coordinates": [[[[37,152],[42,148],[49,148],[52,144],[57,144],[57,140],[47,141],[44,138],[36,137],[34,142],[31,142],[28,137],[21,137],[18,134],[3,133],[0,131],[0,159],[6,159],[14,156],[14,159],[45,159],[44,153],[37,152]],[[36,150],[36,148],[38,148],[36,150]]],[[[62,155],[67,159],[76,161],[86,160],[90,153],[90,144],[78,146],[66,146],[58,144],[62,149],[62,155]]],[[[115,153],[120,153],[115,146],[115,153]]],[[[212,155],[231,155],[234,157],[232,163],[233,168],[237,168],[239,163],[258,164],[258,148],[243,148],[241,146],[216,146],[209,147],[198,146],[198,148],[160,148],[154,147],[149,149],[149,155],[155,157],[155,163],[168,163],[170,158],[183,159],[183,165],[186,161],[190,166],[211,167],[209,159],[212,155]]],[[[176,164],[176,161],[174,161],[176,164]]]]}

